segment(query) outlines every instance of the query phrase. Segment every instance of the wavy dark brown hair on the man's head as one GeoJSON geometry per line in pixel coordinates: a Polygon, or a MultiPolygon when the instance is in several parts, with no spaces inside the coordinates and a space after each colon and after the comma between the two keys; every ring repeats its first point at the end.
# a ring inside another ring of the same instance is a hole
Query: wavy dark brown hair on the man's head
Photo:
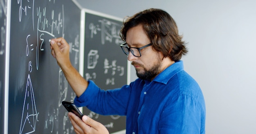
{"type": "Polygon", "coordinates": [[[146,9],[124,20],[120,37],[126,41],[127,31],[135,26],[142,25],[155,50],[162,52],[164,57],[179,61],[188,50],[178,34],[174,19],[162,9],[146,9]]]}

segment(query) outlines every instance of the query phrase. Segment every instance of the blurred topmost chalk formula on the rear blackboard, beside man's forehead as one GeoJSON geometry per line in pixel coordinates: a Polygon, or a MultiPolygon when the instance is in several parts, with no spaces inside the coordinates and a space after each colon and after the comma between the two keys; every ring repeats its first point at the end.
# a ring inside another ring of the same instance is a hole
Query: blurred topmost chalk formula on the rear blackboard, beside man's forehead
{"type": "Polygon", "coordinates": [[[90,23],[90,37],[93,38],[94,35],[98,33],[101,35],[101,44],[104,45],[106,41],[115,44],[121,44],[123,41],[119,36],[121,25],[115,22],[112,22],[108,19],[101,19],[98,21],[98,24],[90,23]]]}

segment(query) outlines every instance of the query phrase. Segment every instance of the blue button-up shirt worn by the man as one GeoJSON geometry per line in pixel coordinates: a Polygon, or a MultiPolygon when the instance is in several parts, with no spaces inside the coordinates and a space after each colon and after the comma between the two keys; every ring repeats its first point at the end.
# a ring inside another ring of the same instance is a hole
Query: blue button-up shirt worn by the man
{"type": "Polygon", "coordinates": [[[74,103],[102,115],[126,115],[126,134],[205,134],[204,97],[183,61],[151,82],[138,78],[120,89],[104,91],[89,81],[74,103]]]}

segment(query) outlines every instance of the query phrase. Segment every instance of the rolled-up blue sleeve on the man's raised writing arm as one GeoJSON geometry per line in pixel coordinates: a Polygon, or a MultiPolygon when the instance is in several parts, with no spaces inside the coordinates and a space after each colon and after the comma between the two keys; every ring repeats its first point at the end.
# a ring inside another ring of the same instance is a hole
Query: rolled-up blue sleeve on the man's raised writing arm
{"type": "Polygon", "coordinates": [[[93,112],[101,115],[126,115],[130,96],[130,86],[119,89],[102,90],[93,81],[88,81],[85,92],[74,99],[76,106],[86,106],[93,112]]]}

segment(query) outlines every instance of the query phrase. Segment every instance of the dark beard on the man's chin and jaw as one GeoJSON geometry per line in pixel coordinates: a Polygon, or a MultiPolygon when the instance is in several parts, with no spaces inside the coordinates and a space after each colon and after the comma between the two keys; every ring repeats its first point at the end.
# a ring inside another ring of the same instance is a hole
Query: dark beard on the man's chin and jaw
{"type": "MultiPolygon", "coordinates": [[[[135,63],[132,62],[132,65],[134,64],[135,63]]],[[[153,65],[153,67],[150,67],[150,69],[146,69],[146,67],[141,66],[144,68],[144,72],[142,73],[139,73],[139,70],[135,69],[136,75],[138,78],[141,78],[142,80],[151,80],[161,72],[161,69],[160,69],[161,66],[162,66],[161,60],[160,58],[157,58],[157,62],[153,65]]]]}

